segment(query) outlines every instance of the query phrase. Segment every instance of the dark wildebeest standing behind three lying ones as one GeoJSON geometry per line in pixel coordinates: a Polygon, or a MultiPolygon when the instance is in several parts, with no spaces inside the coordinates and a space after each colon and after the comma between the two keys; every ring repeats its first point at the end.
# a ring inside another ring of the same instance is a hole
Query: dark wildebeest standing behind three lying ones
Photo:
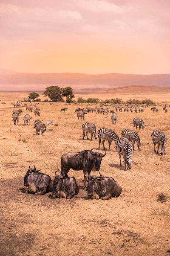
{"type": "MultiPolygon", "coordinates": [[[[102,157],[106,155],[105,154],[99,153],[99,152],[93,152],[91,150],[83,150],[79,153],[65,153],[61,157],[61,171],[62,174],[65,174],[65,177],[68,177],[68,172],[70,169],[73,169],[74,171],[80,171],[83,170],[84,172],[84,179],[86,180],[85,177],[85,172],[88,172],[88,175],[91,174],[92,171],[99,171],[100,170],[100,165],[102,161],[102,157]]],[[[85,182],[84,182],[84,187],[85,182]]]]}

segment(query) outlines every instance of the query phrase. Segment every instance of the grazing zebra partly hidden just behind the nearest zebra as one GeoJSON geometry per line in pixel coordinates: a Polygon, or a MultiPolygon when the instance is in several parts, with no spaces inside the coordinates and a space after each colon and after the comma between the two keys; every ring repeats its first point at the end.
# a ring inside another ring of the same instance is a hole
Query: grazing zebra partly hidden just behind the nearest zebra
{"type": "Polygon", "coordinates": [[[134,145],[136,142],[138,150],[141,151],[141,140],[136,131],[129,130],[129,129],[123,129],[122,137],[125,137],[125,138],[127,138],[127,140],[130,140],[132,142],[133,150],[135,150],[134,145]]]}

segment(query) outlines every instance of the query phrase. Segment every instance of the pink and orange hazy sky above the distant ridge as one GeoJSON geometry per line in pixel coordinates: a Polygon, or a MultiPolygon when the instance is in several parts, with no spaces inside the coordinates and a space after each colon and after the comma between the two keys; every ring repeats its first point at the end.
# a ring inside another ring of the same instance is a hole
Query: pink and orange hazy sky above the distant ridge
{"type": "Polygon", "coordinates": [[[170,73],[170,0],[0,0],[0,68],[170,73]]]}

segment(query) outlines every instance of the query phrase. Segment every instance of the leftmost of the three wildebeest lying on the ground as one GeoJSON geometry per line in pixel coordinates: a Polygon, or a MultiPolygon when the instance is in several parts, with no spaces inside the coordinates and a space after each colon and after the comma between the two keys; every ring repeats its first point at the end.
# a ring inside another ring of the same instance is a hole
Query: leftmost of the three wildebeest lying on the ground
{"type": "MultiPolygon", "coordinates": [[[[31,165],[30,165],[31,166],[31,165]]],[[[53,188],[53,182],[49,175],[36,171],[33,168],[28,168],[26,175],[24,177],[24,186],[26,193],[35,193],[35,195],[44,195],[45,193],[51,192],[53,188]]],[[[22,189],[20,189],[22,190],[22,189]]]]}

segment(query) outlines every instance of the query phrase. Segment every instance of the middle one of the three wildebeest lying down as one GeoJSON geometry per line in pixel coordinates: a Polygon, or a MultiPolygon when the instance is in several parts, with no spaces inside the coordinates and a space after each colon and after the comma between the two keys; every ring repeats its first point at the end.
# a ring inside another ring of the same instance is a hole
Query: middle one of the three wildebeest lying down
{"type": "Polygon", "coordinates": [[[53,183],[52,195],[56,195],[58,198],[71,199],[74,195],[79,193],[79,185],[75,177],[65,177],[65,174],[57,175],[55,172],[55,179],[53,183]]]}

